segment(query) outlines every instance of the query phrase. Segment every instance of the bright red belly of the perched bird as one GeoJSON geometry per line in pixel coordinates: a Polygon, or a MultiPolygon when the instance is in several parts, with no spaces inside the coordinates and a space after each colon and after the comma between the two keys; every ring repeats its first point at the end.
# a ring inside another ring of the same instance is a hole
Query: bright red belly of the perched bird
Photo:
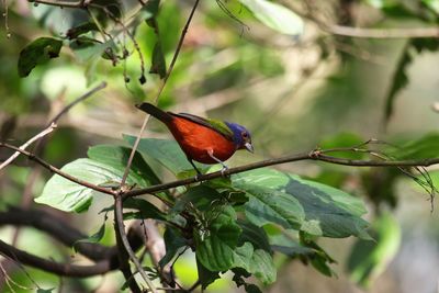
{"type": "Polygon", "coordinates": [[[210,149],[222,161],[232,157],[236,150],[233,142],[223,135],[189,120],[175,119],[168,126],[184,154],[199,162],[217,164],[209,156],[210,149]]]}

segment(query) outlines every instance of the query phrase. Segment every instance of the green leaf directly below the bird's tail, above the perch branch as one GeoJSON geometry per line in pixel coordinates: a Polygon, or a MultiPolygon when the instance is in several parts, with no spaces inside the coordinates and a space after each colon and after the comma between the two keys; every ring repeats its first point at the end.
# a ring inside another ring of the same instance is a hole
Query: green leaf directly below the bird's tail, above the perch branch
{"type": "MultiPolygon", "coordinates": [[[[124,139],[130,145],[134,145],[136,137],[124,135],[124,139]]],[[[188,170],[192,171],[192,173],[195,172],[191,164],[188,161],[184,153],[175,140],[144,138],[140,139],[138,151],[145,156],[156,159],[176,176],[187,173],[188,170]]],[[[198,167],[199,166],[201,165],[198,165],[198,167]]],[[[207,170],[209,167],[203,165],[203,167],[199,167],[199,169],[203,171],[207,170]]]]}

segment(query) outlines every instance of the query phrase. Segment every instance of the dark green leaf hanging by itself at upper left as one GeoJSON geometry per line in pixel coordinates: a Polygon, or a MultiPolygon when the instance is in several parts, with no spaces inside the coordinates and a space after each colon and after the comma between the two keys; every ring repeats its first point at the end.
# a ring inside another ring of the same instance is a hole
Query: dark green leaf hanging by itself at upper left
{"type": "Polygon", "coordinates": [[[26,77],[35,66],[59,56],[63,41],[53,37],[38,37],[20,52],[19,76],[26,77]]]}

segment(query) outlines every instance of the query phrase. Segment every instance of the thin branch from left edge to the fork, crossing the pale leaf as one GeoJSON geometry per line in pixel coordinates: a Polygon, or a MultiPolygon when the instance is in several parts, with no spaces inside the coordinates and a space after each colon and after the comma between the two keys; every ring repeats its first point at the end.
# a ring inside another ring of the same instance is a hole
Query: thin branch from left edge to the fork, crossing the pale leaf
{"type": "Polygon", "coordinates": [[[16,150],[18,153],[21,153],[24,156],[26,156],[30,160],[36,161],[37,164],[40,164],[41,166],[43,166],[47,170],[49,170],[49,171],[52,171],[52,172],[54,172],[56,174],[59,174],[60,177],[64,177],[65,179],[70,180],[71,182],[75,182],[77,184],[83,185],[86,188],[89,188],[89,189],[92,189],[92,190],[95,190],[98,192],[102,192],[102,193],[105,193],[105,194],[110,194],[110,195],[114,195],[115,194],[115,191],[113,191],[111,189],[102,188],[102,187],[95,185],[93,183],[87,182],[85,180],[78,179],[76,177],[72,177],[72,176],[59,170],[58,168],[52,166],[50,164],[46,162],[45,160],[41,159],[40,157],[35,156],[34,154],[32,154],[32,153],[30,153],[27,150],[24,150],[24,149],[21,149],[21,148],[18,148],[15,146],[12,146],[12,145],[9,145],[9,144],[4,144],[4,143],[0,143],[0,147],[5,147],[5,148],[9,148],[9,149],[16,150]]]}

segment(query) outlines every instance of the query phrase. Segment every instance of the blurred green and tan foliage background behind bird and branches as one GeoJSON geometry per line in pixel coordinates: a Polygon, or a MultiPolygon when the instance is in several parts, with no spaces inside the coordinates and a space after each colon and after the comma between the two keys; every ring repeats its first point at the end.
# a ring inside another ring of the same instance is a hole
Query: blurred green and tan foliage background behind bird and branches
{"type": "MultiPolygon", "coordinates": [[[[83,157],[91,145],[123,144],[122,134],[137,135],[143,114],[134,104],[153,101],[161,82],[157,75],[148,74],[151,59],[157,57],[154,44],[159,37],[169,65],[193,1],[161,1],[157,16],[159,35],[142,19],[147,18],[147,12],[139,12],[139,1],[123,2],[121,19],[126,26],[104,23],[102,15],[94,13],[114,36],[113,54],[122,56],[124,49],[127,53],[126,58],[117,61],[100,57],[104,46],[89,45],[89,40],[79,44],[78,40],[66,37],[68,30],[89,20],[90,15],[82,10],[24,0],[3,2],[2,10],[8,9],[8,14],[3,14],[0,25],[1,140],[20,145],[44,128],[65,104],[102,81],[108,83],[104,90],[59,121],[59,127],[42,149],[42,157],[60,167],[83,157]],[[131,32],[137,44],[133,44],[126,32],[131,32]],[[20,52],[40,36],[63,41],[59,57],[36,66],[21,78],[20,52]],[[139,81],[143,72],[137,45],[146,70],[144,84],[139,81]]],[[[352,146],[372,137],[404,146],[429,134],[428,143],[437,146],[439,41],[412,38],[410,30],[437,27],[439,1],[275,1],[294,13],[295,22],[292,15],[278,14],[279,11],[269,11],[267,7],[258,14],[251,7],[257,2],[201,1],[159,100],[160,106],[171,111],[246,125],[252,133],[256,155],[237,154],[230,166],[309,151],[316,146],[352,146]],[[280,22],[267,25],[270,20],[263,20],[266,14],[280,22]],[[373,27],[380,32],[406,29],[407,35],[350,37],[336,34],[333,24],[373,27]]],[[[105,36],[99,32],[88,32],[85,36],[105,44],[105,36]]],[[[155,121],[149,123],[145,135],[169,137],[155,121]]],[[[416,150],[416,143],[412,148],[416,150]]],[[[437,148],[429,149],[437,157],[437,148]]],[[[0,149],[0,160],[9,156],[9,151],[0,149]]],[[[416,156],[423,157],[425,151],[419,150],[416,156]]],[[[324,277],[299,260],[278,259],[279,280],[267,292],[438,291],[438,215],[430,213],[428,194],[410,178],[392,169],[316,162],[278,168],[363,196],[370,206],[369,219],[376,244],[322,239],[319,244],[338,260],[333,266],[338,278],[324,277]]],[[[435,168],[430,171],[436,182],[435,168]]],[[[15,161],[0,171],[0,205],[2,209],[33,205],[33,198],[41,193],[49,176],[26,159],[15,161]]],[[[166,172],[161,176],[169,177],[166,172]]],[[[101,201],[101,207],[110,204],[101,201]]],[[[102,223],[97,212],[99,209],[79,216],[64,216],[92,234],[102,223]]],[[[111,233],[109,228],[104,244],[113,241],[111,233]]],[[[16,246],[38,256],[75,258],[74,251],[33,229],[16,234],[8,227],[0,235],[3,240],[18,235],[16,246]]],[[[193,282],[196,273],[193,256],[188,253],[176,270],[184,284],[193,282]]],[[[34,269],[26,271],[42,288],[59,284],[54,275],[34,269]]],[[[11,270],[10,277],[24,286],[33,285],[21,269],[11,270]]],[[[123,279],[114,272],[104,278],[63,280],[63,283],[65,292],[94,289],[114,292],[123,279]]],[[[8,291],[4,278],[2,285],[8,291]]],[[[209,292],[229,292],[232,288],[227,280],[221,280],[209,292]]]]}

